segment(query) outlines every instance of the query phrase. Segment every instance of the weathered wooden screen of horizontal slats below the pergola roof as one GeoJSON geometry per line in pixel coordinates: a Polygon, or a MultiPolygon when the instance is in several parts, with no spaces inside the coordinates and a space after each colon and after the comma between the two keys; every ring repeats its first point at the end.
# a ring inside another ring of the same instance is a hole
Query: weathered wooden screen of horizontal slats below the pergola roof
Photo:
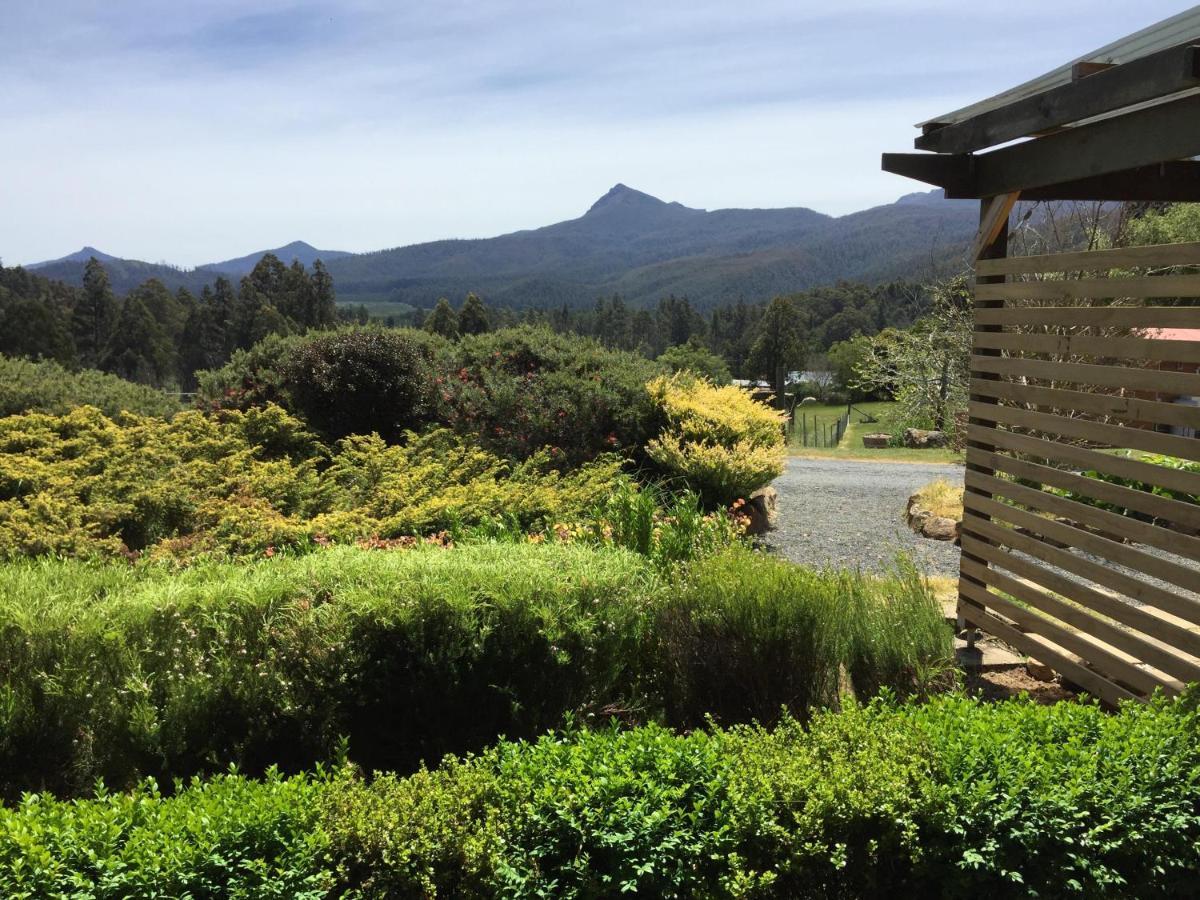
{"type": "Polygon", "coordinates": [[[1163,331],[1200,329],[1196,272],[977,263],[959,614],[1109,703],[1200,682],[1200,464],[1163,458],[1200,463],[1200,331],[1163,331]]]}

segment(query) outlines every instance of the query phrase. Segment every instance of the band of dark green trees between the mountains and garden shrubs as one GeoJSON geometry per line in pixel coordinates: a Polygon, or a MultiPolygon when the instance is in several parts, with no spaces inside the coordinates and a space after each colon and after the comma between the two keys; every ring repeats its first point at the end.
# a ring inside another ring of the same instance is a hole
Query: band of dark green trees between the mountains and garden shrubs
{"type": "MultiPolygon", "coordinates": [[[[652,308],[632,307],[613,295],[590,308],[517,311],[468,294],[457,308],[443,299],[432,310],[388,316],[385,324],[449,338],[544,325],[662,359],[676,368],[698,370],[714,380],[774,379],[781,368],[828,367],[830,348],[857,335],[906,328],[929,308],[926,290],[912,283],[844,282],[767,302],[739,299],[707,314],[674,295],[652,308]]],[[[284,265],[270,253],[236,287],[217,276],[198,296],[187,288],[170,292],[150,278],[119,299],[95,258],[86,264],[82,287],[0,266],[0,354],[53,359],[156,386],[191,390],[196,371],[216,368],[271,334],[367,319],[365,307],[338,308],[334,280],[319,260],[308,270],[299,262],[284,265]]]]}

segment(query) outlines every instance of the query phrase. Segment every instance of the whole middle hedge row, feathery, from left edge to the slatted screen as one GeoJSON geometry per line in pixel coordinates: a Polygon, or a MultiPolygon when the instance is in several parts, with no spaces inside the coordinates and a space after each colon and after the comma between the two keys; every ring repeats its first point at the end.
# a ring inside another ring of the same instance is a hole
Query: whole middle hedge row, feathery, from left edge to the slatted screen
{"type": "Polygon", "coordinates": [[[703,725],[919,690],[949,631],[914,576],[749,551],[674,575],[581,544],[334,548],[252,565],[0,566],[0,794],[286,770],[341,737],[367,768],[529,737],[563,716],[703,725]],[[923,635],[898,664],[835,602],[923,635]],[[721,684],[752,679],[743,695],[721,684]],[[714,692],[720,703],[710,703],[714,692]]]}

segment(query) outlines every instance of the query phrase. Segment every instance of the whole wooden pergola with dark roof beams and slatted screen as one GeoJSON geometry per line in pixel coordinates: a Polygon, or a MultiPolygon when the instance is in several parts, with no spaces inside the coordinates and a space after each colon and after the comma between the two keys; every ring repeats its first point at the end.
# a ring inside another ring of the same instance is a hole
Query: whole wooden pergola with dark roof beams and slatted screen
{"type": "Polygon", "coordinates": [[[1200,202],[1200,7],[919,126],[980,202],[959,618],[1106,702],[1200,680],[1200,244],[1008,257],[1018,199],[1200,202]],[[1157,299],[1157,304],[1156,304],[1157,299]],[[1133,454],[1114,454],[1112,449],[1133,454]]]}

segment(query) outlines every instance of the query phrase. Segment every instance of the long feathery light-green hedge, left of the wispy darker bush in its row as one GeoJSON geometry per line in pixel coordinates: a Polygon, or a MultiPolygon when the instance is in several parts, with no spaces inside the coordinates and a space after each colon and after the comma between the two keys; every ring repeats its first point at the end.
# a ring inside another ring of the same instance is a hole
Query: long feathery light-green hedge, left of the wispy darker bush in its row
{"type": "Polygon", "coordinates": [[[530,736],[635,694],[654,596],[644,558],[568,545],[0,566],[0,792],[530,736]]]}

